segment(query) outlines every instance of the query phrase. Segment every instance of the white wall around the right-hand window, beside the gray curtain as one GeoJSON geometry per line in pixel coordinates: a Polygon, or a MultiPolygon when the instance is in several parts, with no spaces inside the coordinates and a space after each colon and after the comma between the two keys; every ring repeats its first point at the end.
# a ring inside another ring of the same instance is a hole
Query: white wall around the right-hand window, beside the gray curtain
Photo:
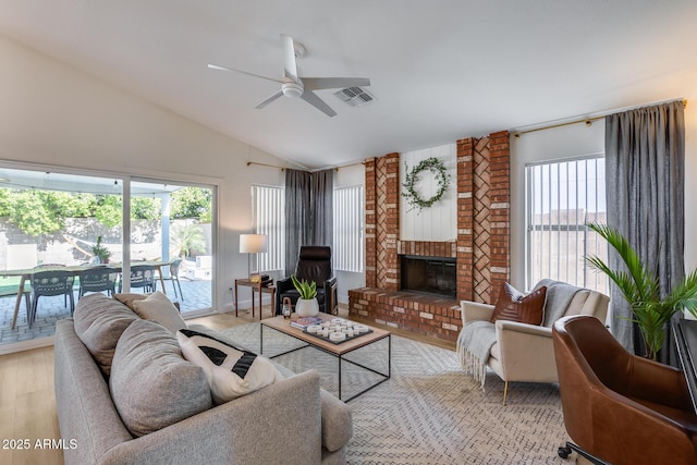
{"type": "MultiPolygon", "coordinates": [[[[677,97],[676,97],[677,98],[677,97]]],[[[689,100],[689,99],[688,99],[689,100]]],[[[650,105],[647,102],[646,105],[650,105]]],[[[697,197],[697,96],[685,109],[685,268],[697,266],[697,215],[690,199],[697,197]]],[[[604,120],[590,127],[574,124],[511,136],[511,283],[525,285],[525,164],[584,155],[604,154],[604,120]]]]}

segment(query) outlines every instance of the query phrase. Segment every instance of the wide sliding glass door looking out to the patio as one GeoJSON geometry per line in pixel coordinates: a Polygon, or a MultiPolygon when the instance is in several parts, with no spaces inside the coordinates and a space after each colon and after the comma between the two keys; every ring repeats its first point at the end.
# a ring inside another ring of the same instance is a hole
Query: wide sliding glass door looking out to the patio
{"type": "Polygon", "coordinates": [[[28,294],[36,267],[75,270],[75,302],[78,271],[111,266],[117,292],[162,291],[183,314],[210,311],[215,195],[215,186],[174,180],[0,166],[0,352],[40,345],[32,341],[71,316],[65,296],[41,296],[28,321],[21,285],[28,294]],[[137,265],[152,267],[150,287],[131,285],[137,265]]]}

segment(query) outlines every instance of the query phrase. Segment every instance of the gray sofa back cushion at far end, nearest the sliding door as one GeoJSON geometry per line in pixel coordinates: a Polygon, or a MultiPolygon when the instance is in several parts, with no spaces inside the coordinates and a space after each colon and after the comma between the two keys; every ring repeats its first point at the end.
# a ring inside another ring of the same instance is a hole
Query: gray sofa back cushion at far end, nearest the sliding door
{"type": "Polygon", "coordinates": [[[77,302],[73,318],[77,336],[108,377],[117,342],[138,316],[113,298],[89,294],[77,302]]]}

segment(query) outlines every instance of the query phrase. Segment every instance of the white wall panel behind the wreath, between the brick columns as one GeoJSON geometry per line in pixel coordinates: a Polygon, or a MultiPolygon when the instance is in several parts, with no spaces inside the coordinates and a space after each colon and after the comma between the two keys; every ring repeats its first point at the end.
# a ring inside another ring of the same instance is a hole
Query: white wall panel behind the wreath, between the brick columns
{"type": "MultiPolygon", "coordinates": [[[[418,210],[400,195],[400,238],[402,241],[455,241],[457,238],[457,145],[449,144],[400,155],[400,192],[406,175],[423,160],[437,158],[450,175],[450,186],[440,201],[418,210]]],[[[438,183],[430,171],[421,171],[415,185],[423,199],[438,192],[438,183]]]]}

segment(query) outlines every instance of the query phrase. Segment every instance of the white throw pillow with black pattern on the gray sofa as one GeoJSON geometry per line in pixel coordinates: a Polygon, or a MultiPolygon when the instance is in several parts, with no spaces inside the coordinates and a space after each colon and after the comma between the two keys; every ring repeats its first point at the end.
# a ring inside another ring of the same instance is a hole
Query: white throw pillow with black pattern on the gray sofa
{"type": "Polygon", "coordinates": [[[268,358],[208,334],[184,329],[176,332],[176,339],[184,357],[204,368],[218,404],[283,379],[268,358]]]}

